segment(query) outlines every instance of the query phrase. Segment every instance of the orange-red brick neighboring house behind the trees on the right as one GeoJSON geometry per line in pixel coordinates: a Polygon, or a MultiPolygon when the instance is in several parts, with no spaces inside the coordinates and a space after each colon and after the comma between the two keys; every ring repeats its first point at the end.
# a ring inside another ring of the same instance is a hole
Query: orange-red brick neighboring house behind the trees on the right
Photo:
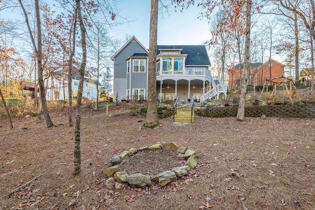
{"type": "MultiPolygon", "coordinates": [[[[252,63],[250,70],[249,80],[247,85],[256,86],[263,85],[266,79],[283,77],[284,76],[284,64],[270,59],[264,63],[257,62],[252,63]],[[270,76],[271,71],[271,76],[270,76]]],[[[242,63],[235,65],[233,68],[228,70],[228,88],[234,88],[240,86],[240,78],[242,77],[244,64],[242,63]]]]}

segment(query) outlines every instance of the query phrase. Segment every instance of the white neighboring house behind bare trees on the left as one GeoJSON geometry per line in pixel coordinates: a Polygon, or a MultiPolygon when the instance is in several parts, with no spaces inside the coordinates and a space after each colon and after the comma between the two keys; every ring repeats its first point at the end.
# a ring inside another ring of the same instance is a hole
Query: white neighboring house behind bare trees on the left
{"type": "MultiPolygon", "coordinates": [[[[79,87],[79,71],[73,68],[72,73],[72,97],[76,97],[79,87]]],[[[45,80],[46,100],[68,100],[68,74],[62,70],[53,72],[50,77],[45,80]]],[[[98,86],[100,89],[100,86],[98,86]]],[[[96,80],[92,79],[91,75],[84,75],[82,96],[88,99],[97,97],[96,80]]]]}

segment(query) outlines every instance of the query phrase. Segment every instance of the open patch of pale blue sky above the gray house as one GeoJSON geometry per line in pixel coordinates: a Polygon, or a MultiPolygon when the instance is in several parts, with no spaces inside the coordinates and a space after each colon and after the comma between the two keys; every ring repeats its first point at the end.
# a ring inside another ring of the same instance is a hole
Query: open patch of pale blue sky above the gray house
{"type": "MultiPolygon", "coordinates": [[[[125,39],[126,34],[135,36],[149,48],[151,0],[122,0],[117,5],[121,16],[134,20],[118,26],[113,35],[125,39]]],[[[182,13],[169,6],[169,16],[158,14],[158,45],[200,45],[211,38],[207,20],[198,20],[200,8],[189,6],[182,13]]]]}

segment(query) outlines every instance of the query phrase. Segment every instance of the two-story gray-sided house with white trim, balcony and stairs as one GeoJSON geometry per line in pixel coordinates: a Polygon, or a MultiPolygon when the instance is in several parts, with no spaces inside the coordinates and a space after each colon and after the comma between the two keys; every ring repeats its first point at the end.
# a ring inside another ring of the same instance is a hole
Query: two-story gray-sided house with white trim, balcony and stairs
{"type": "MultiPolygon", "coordinates": [[[[132,37],[111,59],[114,61],[114,97],[147,99],[149,51],[132,37]]],[[[157,98],[159,101],[196,101],[226,95],[220,77],[212,77],[204,45],[158,45],[157,98]]]]}

